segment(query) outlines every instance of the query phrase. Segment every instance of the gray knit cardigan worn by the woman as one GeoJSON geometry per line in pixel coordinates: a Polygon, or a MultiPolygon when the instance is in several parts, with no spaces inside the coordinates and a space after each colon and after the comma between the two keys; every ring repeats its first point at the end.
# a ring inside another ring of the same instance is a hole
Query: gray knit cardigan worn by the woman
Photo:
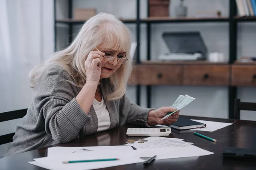
{"type": "MultiPolygon", "coordinates": [[[[65,80],[74,82],[67,71],[58,65],[50,66],[37,79],[32,104],[17,125],[5,156],[67,143],[77,136],[97,132],[98,118],[93,106],[86,114],[75,99],[81,88],[65,80]]],[[[152,109],[131,103],[126,95],[107,101],[106,96],[113,92],[108,79],[101,79],[101,88],[111,120],[109,129],[125,124],[149,126],[148,113],[152,109]]]]}

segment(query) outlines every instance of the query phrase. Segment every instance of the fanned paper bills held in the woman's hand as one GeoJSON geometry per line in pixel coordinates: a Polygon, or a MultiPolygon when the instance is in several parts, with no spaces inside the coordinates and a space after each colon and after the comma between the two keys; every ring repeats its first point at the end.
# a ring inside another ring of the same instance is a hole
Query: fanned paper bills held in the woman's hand
{"type": "MultiPolygon", "coordinates": [[[[177,110],[174,111],[174,112],[170,112],[170,113],[167,113],[166,116],[163,117],[163,119],[166,119],[168,118],[169,116],[171,116],[173,113],[179,111],[180,109],[184,108],[186,105],[188,105],[189,103],[191,103],[193,100],[195,100],[195,98],[189,96],[189,95],[180,95],[176,101],[173,103],[172,105],[172,108],[176,108],[177,110]]],[[[163,120],[161,119],[161,120],[163,120]]]]}

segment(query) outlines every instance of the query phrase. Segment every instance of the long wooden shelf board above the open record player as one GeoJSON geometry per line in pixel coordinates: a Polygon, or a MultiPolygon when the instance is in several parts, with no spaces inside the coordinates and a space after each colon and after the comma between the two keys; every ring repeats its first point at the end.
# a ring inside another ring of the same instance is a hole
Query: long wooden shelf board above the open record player
{"type": "Polygon", "coordinates": [[[216,17],[216,18],[170,18],[170,17],[148,17],[142,19],[143,23],[202,23],[202,22],[227,22],[228,17],[216,17]]]}

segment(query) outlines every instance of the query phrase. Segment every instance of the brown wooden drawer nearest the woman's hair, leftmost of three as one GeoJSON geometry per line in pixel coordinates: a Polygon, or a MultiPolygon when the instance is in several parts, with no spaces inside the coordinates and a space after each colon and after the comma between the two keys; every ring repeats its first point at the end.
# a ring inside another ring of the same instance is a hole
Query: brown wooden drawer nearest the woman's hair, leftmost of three
{"type": "Polygon", "coordinates": [[[181,65],[135,65],[129,84],[181,85],[181,65]]]}

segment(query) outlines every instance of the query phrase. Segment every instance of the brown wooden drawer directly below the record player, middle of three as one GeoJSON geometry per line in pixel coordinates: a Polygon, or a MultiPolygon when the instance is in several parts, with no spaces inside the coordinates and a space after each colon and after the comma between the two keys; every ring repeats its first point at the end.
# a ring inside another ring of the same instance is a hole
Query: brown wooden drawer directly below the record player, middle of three
{"type": "Polygon", "coordinates": [[[229,65],[184,65],[184,85],[229,85],[229,65]]]}

